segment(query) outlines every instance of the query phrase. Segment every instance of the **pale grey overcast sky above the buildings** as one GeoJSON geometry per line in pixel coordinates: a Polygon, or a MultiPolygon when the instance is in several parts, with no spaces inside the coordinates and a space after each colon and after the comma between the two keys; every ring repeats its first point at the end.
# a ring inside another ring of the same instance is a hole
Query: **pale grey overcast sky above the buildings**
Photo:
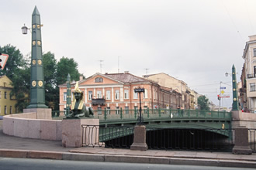
{"type": "Polygon", "coordinates": [[[237,81],[248,36],[256,34],[255,0],[0,0],[0,46],[31,50],[37,6],[43,52],[74,58],[85,76],[95,73],[168,73],[218,105],[220,81],[231,105],[232,65],[237,81]],[[100,62],[100,60],[103,60],[100,62]],[[102,64],[102,67],[100,66],[102,64]],[[147,72],[146,72],[147,69],[147,72]]]}

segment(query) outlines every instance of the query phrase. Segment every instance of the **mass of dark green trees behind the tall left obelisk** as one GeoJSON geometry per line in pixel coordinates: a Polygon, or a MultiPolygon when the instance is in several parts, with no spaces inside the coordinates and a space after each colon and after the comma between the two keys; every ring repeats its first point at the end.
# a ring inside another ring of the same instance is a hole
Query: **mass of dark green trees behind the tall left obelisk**
{"type": "MultiPolygon", "coordinates": [[[[9,55],[5,69],[0,70],[0,76],[6,75],[12,80],[11,95],[16,97],[16,109],[22,112],[29,105],[30,91],[30,62],[31,57],[26,59],[15,46],[0,46],[0,53],[9,55]]],[[[45,81],[46,105],[54,110],[59,110],[59,88],[57,85],[65,83],[67,73],[71,80],[79,80],[78,63],[74,59],[62,57],[57,63],[54,53],[43,54],[43,73],[45,81]]]]}

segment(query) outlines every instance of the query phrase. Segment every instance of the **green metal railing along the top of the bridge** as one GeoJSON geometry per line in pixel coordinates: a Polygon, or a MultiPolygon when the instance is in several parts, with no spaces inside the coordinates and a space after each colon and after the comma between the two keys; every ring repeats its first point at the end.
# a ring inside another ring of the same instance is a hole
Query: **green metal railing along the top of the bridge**
{"type": "MultiPolygon", "coordinates": [[[[100,122],[107,121],[137,121],[140,115],[140,110],[94,110],[95,117],[99,118],[100,122]]],[[[146,120],[161,120],[161,119],[216,119],[231,121],[231,113],[225,111],[204,111],[204,110],[178,110],[178,109],[143,109],[142,116],[146,120]]],[[[52,111],[53,119],[63,119],[66,117],[65,111],[52,111]]]]}

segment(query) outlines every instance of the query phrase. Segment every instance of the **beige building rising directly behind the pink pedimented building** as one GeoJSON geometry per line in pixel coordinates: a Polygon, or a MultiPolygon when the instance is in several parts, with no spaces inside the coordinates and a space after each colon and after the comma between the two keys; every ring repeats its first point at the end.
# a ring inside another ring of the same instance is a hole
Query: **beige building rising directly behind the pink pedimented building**
{"type": "Polygon", "coordinates": [[[181,107],[184,109],[195,109],[197,106],[197,96],[198,93],[189,89],[187,83],[182,80],[178,80],[173,76],[169,76],[166,73],[157,73],[144,75],[144,78],[148,80],[153,80],[162,87],[168,87],[172,90],[176,90],[178,93],[182,94],[182,104],[181,107]]]}

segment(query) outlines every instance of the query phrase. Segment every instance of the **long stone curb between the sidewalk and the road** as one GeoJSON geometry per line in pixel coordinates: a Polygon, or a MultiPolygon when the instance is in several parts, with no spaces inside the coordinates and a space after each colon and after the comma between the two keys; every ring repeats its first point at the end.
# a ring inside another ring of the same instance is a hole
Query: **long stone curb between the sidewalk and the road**
{"type": "Polygon", "coordinates": [[[87,162],[126,162],[165,165],[205,165],[219,167],[256,168],[256,162],[230,159],[154,157],[136,155],[81,154],[60,151],[27,151],[0,149],[0,157],[8,158],[43,158],[87,162]]]}

